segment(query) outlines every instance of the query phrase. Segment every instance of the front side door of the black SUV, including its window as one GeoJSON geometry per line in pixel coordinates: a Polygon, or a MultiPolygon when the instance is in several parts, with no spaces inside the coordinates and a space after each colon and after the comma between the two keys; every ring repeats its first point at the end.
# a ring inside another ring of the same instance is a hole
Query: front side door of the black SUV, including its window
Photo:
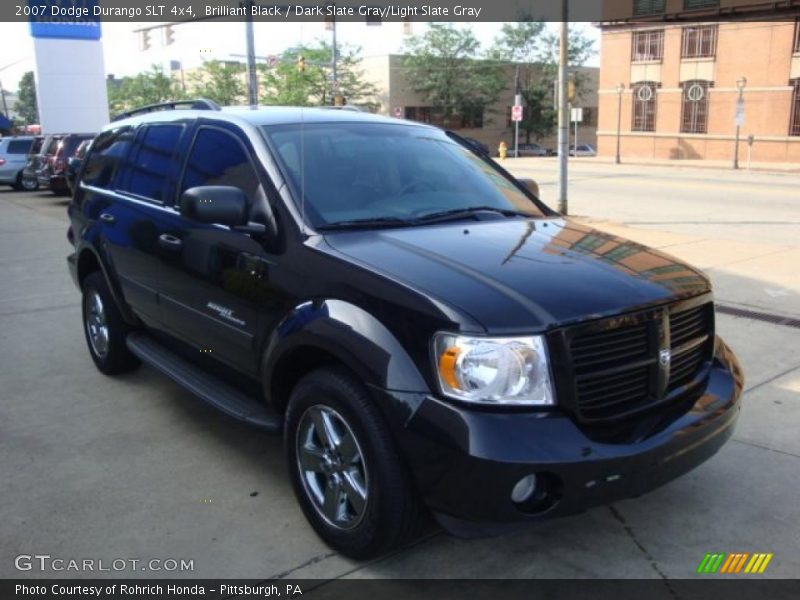
{"type": "MultiPolygon", "coordinates": [[[[248,198],[251,219],[260,220],[258,215],[270,211],[265,190],[272,188],[251,160],[254,155],[237,127],[198,127],[178,195],[196,186],[235,186],[248,198]]],[[[282,305],[280,292],[270,284],[274,257],[258,239],[184,218],[177,206],[172,226],[174,250],[164,261],[161,288],[167,327],[229,366],[256,373],[259,319],[282,305]]]]}

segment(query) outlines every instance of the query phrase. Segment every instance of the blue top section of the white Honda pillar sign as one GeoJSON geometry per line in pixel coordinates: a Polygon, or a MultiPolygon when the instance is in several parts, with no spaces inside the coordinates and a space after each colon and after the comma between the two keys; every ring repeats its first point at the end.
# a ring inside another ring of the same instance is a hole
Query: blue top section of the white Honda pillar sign
{"type": "Polygon", "coordinates": [[[99,40],[99,0],[28,0],[36,38],[99,40]]]}

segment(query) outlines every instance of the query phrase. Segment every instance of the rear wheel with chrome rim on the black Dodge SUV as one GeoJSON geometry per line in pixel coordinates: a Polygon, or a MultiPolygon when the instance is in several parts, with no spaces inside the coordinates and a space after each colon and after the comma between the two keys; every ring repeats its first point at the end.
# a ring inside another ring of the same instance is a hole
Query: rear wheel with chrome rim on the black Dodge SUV
{"type": "Polygon", "coordinates": [[[116,375],[139,366],[139,359],[125,345],[130,327],[101,272],[95,271],[84,280],[82,306],[83,333],[97,368],[106,375],[116,375]]]}

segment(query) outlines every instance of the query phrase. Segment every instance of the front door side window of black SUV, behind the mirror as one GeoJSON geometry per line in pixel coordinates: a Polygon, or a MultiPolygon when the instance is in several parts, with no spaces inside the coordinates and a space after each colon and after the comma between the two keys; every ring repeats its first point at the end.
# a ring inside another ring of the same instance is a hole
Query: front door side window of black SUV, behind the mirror
{"type": "Polygon", "coordinates": [[[239,140],[224,131],[204,128],[194,140],[181,191],[198,185],[232,185],[252,200],[259,181],[239,140]]]}

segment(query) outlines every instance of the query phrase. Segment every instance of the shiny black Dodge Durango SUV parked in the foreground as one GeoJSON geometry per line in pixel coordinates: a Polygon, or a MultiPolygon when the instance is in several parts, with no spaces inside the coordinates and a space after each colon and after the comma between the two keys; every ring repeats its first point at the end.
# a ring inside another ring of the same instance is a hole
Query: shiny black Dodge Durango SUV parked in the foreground
{"type": "Polygon", "coordinates": [[[283,431],[349,556],[423,507],[477,535],[641,494],[730,437],[741,369],[701,272],[534,191],[418,123],[142,109],[93,141],[69,207],[89,352],[283,431]]]}

